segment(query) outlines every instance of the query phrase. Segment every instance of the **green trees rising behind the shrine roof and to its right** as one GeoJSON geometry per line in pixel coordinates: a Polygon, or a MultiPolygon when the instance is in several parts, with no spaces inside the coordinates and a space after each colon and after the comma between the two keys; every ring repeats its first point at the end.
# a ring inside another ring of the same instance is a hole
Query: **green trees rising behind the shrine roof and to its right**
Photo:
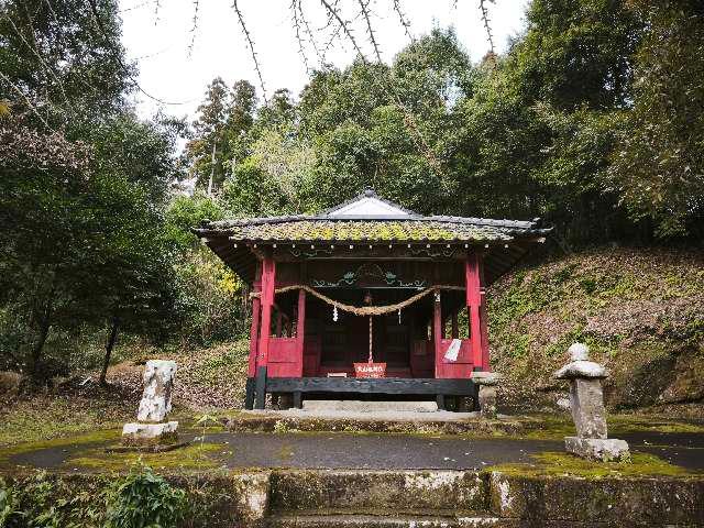
{"type": "Polygon", "coordinates": [[[216,189],[234,215],[374,187],[425,213],[544,217],[568,245],[696,237],[704,61],[686,35],[702,31],[697,2],[534,0],[503,56],[473,65],[437,29],[391,65],[324,68],[256,112],[234,102],[242,82],[222,102],[216,79],[196,129],[222,109],[220,141],[239,147],[216,148],[216,189]],[[248,119],[230,132],[235,108],[248,119]]]}

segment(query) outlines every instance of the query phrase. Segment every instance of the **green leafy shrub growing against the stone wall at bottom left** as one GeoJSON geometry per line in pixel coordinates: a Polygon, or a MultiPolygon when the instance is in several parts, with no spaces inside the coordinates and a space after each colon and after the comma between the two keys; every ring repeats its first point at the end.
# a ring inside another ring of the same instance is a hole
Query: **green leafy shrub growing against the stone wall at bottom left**
{"type": "Polygon", "coordinates": [[[107,528],[175,528],[186,515],[184,490],[138,464],[108,492],[107,528]]]}

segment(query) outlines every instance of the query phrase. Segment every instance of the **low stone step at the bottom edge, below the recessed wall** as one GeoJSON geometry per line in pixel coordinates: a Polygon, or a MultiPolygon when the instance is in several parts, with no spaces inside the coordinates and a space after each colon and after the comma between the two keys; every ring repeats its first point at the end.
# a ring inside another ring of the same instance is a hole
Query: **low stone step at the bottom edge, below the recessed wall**
{"type": "Polygon", "coordinates": [[[433,516],[433,515],[279,515],[267,519],[267,528],[514,528],[515,519],[491,516],[433,516]]]}

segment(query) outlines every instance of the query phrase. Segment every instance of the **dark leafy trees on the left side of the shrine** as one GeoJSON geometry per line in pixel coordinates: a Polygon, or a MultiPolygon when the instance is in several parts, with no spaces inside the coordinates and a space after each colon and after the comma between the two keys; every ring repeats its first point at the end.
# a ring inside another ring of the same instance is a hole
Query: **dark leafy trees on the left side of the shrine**
{"type": "Polygon", "coordinates": [[[121,334],[201,343],[230,316],[231,336],[239,304],[219,308],[235,280],[193,251],[199,218],[168,210],[183,125],[128,105],[117,2],[0,11],[0,369],[46,378],[102,360],[105,381],[121,334]],[[199,321],[216,297],[217,317],[199,321]]]}

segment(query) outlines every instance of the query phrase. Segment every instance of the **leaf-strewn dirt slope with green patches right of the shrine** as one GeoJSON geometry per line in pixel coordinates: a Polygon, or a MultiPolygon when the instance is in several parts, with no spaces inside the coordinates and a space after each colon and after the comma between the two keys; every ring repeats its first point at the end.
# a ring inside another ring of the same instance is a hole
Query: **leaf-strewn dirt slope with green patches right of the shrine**
{"type": "Polygon", "coordinates": [[[582,341],[613,374],[610,408],[704,415],[704,252],[592,250],[518,270],[487,299],[506,404],[557,408],[551,373],[582,341]]]}

